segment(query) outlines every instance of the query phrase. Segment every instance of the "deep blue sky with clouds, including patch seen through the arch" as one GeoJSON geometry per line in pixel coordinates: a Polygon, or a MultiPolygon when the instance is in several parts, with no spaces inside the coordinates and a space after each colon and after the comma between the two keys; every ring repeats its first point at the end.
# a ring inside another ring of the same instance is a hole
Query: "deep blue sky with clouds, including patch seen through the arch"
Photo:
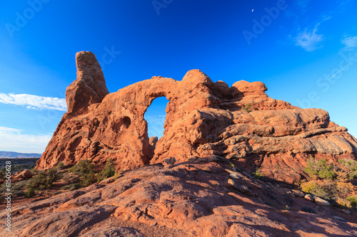
{"type": "MultiPolygon", "coordinates": [[[[344,1],[1,1],[0,150],[44,152],[66,112],[75,54],[92,51],[109,92],[154,75],[262,81],[357,136],[357,4],[344,1]]],[[[161,134],[167,100],[146,112],[161,134]]]]}

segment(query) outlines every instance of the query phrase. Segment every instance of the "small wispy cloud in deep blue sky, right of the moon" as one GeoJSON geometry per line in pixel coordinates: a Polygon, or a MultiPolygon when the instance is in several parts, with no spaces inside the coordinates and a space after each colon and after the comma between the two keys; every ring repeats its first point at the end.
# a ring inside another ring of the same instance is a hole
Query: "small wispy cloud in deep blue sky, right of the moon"
{"type": "Polygon", "coordinates": [[[300,46],[308,52],[315,51],[317,48],[320,48],[323,41],[323,35],[316,33],[317,27],[319,24],[313,28],[313,31],[305,31],[298,33],[298,36],[295,38],[296,46],[300,46]]]}

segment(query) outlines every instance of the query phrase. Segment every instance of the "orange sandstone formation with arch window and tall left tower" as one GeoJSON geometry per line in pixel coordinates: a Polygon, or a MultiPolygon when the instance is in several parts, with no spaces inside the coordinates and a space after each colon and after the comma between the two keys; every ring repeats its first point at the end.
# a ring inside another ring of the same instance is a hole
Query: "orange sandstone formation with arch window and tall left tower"
{"type": "Polygon", "coordinates": [[[126,170],[171,157],[177,164],[216,155],[247,171],[260,167],[268,177],[296,183],[311,155],[356,159],[357,140],[331,122],[328,112],[269,98],[263,83],[241,80],[229,88],[190,70],[181,81],[155,76],[108,93],[93,53],[77,53],[76,63],[77,79],[66,91],[69,110],[38,169],[112,158],[116,169],[126,170]],[[144,113],[164,96],[169,100],[165,132],[156,143],[148,137],[144,113]]]}

